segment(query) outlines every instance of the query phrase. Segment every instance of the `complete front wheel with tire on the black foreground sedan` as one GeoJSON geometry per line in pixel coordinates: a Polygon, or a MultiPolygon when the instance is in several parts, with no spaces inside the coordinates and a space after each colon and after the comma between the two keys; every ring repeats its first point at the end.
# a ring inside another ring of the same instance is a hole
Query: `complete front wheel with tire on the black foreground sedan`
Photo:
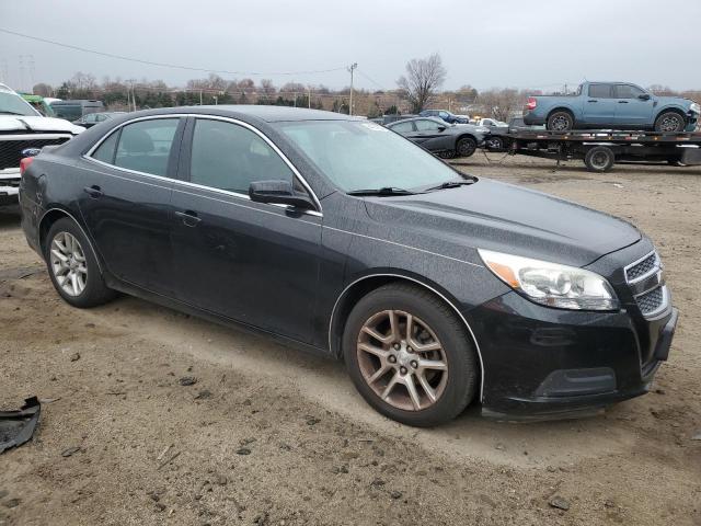
{"type": "Polygon", "coordinates": [[[379,413],[402,424],[426,427],[449,422],[468,407],[476,391],[479,366],[463,323],[444,301],[413,285],[384,285],[360,299],[346,321],[343,354],[363,398],[379,413]],[[407,315],[412,316],[411,339],[406,338],[407,315]],[[390,330],[392,316],[394,338],[390,330]],[[386,341],[371,336],[367,327],[386,341]],[[427,350],[413,348],[418,344],[427,350]],[[432,346],[434,350],[429,350],[432,346]],[[368,352],[370,347],[372,351],[368,352]],[[381,357],[375,354],[378,350],[381,357]],[[423,367],[422,362],[430,367],[423,367]],[[445,370],[434,368],[439,364],[445,365],[445,370]],[[383,368],[387,370],[381,374],[383,368]],[[379,376],[374,380],[376,375],[379,376]],[[415,398],[405,387],[410,377],[415,398]],[[392,384],[393,379],[399,381],[392,384]]]}

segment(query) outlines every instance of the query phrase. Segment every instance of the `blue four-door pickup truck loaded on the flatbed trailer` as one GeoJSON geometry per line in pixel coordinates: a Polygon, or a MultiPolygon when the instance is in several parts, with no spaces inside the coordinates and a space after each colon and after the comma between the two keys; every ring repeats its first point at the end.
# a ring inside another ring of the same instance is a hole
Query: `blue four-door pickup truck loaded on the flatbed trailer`
{"type": "Polygon", "coordinates": [[[583,128],[693,132],[701,114],[698,103],[679,96],[657,96],[628,82],[584,82],[572,95],[529,96],[527,125],[544,124],[552,132],[583,128]]]}

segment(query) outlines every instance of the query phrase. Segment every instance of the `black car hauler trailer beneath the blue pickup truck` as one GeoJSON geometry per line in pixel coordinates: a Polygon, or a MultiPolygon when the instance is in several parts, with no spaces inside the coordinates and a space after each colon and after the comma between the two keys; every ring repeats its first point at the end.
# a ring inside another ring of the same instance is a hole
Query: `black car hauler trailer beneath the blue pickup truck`
{"type": "Polygon", "coordinates": [[[701,164],[698,132],[509,130],[492,136],[502,139],[501,151],[558,161],[582,159],[591,172],[607,172],[617,161],[701,164]]]}

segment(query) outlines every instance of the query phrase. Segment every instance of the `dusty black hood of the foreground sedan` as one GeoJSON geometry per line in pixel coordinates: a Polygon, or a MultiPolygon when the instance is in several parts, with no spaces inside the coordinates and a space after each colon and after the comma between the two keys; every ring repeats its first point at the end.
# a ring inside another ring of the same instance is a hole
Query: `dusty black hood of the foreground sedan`
{"type": "Polygon", "coordinates": [[[412,230],[418,243],[436,247],[440,238],[575,266],[641,239],[635,227],[616,217],[487,179],[426,194],[372,197],[366,208],[389,232],[412,230]]]}

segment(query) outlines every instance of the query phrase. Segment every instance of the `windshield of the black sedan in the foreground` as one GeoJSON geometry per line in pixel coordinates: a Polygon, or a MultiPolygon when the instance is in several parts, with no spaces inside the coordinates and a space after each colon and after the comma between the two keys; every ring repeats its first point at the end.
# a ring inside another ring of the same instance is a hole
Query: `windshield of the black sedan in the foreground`
{"type": "Polygon", "coordinates": [[[277,127],[344,192],[412,190],[460,179],[426,150],[375,123],[301,121],[277,127]]]}

